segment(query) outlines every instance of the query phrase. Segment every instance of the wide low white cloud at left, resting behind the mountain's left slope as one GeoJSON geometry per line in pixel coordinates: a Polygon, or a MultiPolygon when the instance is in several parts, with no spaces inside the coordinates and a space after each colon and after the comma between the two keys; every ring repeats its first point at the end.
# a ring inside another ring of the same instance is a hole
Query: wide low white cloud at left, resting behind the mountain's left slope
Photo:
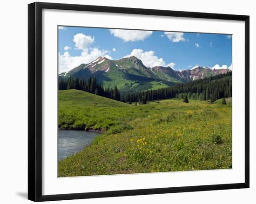
{"type": "Polygon", "coordinates": [[[59,73],[68,72],[76,66],[90,63],[100,56],[112,59],[111,56],[108,55],[107,50],[99,50],[97,48],[85,49],[81,53],[81,56],[71,56],[68,52],[65,52],[63,55],[59,53],[59,73]]]}

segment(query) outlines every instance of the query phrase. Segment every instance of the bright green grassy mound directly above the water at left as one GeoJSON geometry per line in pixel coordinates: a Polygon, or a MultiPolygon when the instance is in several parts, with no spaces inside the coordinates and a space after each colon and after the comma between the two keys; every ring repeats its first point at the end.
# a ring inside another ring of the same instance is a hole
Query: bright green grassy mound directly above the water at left
{"type": "Polygon", "coordinates": [[[128,104],[88,92],[59,91],[59,127],[105,131],[111,126],[124,125],[121,119],[123,114],[129,114],[128,107],[128,104]]]}

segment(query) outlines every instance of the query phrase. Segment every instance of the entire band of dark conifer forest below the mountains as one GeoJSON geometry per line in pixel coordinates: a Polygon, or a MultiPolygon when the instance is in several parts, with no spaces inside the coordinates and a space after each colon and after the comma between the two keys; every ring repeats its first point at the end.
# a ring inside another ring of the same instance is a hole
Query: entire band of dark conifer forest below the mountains
{"type": "Polygon", "coordinates": [[[146,104],[147,101],[160,99],[183,99],[185,96],[188,99],[210,100],[211,103],[214,103],[217,99],[232,97],[232,72],[167,88],[140,92],[121,92],[117,86],[104,88],[95,77],[90,77],[87,80],[73,77],[67,80],[60,79],[59,90],[68,89],[82,90],[130,104],[132,102],[146,104]]]}

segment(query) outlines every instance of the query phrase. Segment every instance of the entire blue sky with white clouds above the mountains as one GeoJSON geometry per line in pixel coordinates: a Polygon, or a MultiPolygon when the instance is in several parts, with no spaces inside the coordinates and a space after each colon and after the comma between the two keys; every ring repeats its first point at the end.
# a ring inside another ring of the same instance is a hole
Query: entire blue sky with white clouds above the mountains
{"type": "Polygon", "coordinates": [[[58,32],[60,73],[99,56],[121,59],[135,55],[146,66],[170,66],[175,70],[194,66],[228,68],[232,64],[232,36],[227,34],[64,26],[59,26],[58,32]]]}

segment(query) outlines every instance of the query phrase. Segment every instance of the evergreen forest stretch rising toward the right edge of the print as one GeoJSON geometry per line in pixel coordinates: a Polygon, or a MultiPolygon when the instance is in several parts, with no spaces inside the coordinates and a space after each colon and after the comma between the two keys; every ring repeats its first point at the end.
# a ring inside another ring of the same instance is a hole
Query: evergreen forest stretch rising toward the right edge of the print
{"type": "Polygon", "coordinates": [[[157,90],[122,92],[121,101],[146,104],[147,101],[184,99],[185,96],[188,99],[210,100],[211,103],[217,99],[232,97],[232,73],[219,74],[157,90]]]}

